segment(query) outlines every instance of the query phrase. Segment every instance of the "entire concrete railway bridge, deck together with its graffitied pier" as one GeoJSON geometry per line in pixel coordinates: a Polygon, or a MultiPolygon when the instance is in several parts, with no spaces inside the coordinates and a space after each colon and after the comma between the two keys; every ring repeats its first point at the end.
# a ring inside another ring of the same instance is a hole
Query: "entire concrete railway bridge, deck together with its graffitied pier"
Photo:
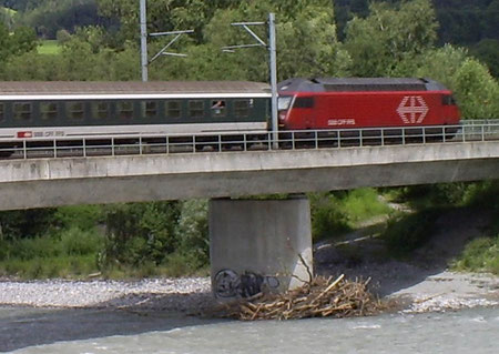
{"type": "Polygon", "coordinates": [[[77,156],[33,159],[22,151],[0,161],[0,210],[210,198],[215,295],[238,296],[255,282],[284,290],[312,269],[308,201],[245,196],[499,179],[499,139],[481,132],[445,143],[357,139],[344,149],[318,149],[315,141],[307,149],[195,153],[140,146],[138,154],[119,154],[113,148],[94,156],[82,148],[77,156]]]}

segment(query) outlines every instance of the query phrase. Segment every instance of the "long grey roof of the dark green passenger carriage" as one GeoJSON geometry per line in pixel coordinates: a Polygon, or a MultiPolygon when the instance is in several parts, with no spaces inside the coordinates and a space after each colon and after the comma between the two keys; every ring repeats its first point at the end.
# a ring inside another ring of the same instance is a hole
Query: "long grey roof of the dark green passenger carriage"
{"type": "Polygon", "coordinates": [[[249,81],[0,81],[8,97],[271,97],[267,83],[249,81]]]}

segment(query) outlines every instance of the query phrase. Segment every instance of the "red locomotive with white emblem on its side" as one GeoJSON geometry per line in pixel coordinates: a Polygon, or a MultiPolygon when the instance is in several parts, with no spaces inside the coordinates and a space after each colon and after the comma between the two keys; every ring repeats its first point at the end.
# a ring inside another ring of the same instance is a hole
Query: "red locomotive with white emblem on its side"
{"type": "Polygon", "coordinates": [[[452,92],[427,79],[289,79],[278,84],[279,129],[459,124],[452,92]]]}

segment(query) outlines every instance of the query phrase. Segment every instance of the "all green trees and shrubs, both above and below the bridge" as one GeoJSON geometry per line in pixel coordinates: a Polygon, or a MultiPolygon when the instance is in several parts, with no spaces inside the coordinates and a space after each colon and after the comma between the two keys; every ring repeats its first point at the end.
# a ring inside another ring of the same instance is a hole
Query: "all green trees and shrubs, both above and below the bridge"
{"type": "MultiPolygon", "coordinates": [[[[172,48],[189,57],[155,61],[150,78],[267,81],[265,50],[226,54],[220,48],[251,40],[231,22],[265,20],[272,11],[277,16],[279,79],[428,77],[455,92],[465,118],[499,118],[499,0],[333,3],[149,1],[150,32],[195,30],[172,48]]],[[[18,11],[0,9],[0,80],[140,79],[136,0],[0,0],[0,7],[18,11]],[[39,39],[50,40],[39,47],[39,39]]],[[[263,27],[255,31],[265,37],[263,27]]],[[[150,52],[164,44],[164,39],[152,39],[150,52]]],[[[483,208],[499,220],[497,183],[383,190],[385,196],[409,204],[413,214],[394,213],[378,193],[363,189],[310,194],[314,240],[340,237],[365,220],[390,218],[383,237],[393,254],[407,255],[428,241],[441,210],[483,208]]],[[[206,201],[3,212],[0,274],[203,272],[208,262],[206,214],[206,201]]],[[[499,224],[490,234],[472,243],[456,266],[493,271],[499,224]]]]}

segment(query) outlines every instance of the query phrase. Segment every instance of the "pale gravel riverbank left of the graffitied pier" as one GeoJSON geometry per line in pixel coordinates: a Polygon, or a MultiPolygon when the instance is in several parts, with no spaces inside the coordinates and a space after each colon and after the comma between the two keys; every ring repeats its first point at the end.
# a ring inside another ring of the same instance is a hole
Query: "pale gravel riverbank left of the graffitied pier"
{"type": "Polygon", "coordinates": [[[212,301],[208,277],[141,281],[0,280],[0,305],[190,312],[212,301]]]}

